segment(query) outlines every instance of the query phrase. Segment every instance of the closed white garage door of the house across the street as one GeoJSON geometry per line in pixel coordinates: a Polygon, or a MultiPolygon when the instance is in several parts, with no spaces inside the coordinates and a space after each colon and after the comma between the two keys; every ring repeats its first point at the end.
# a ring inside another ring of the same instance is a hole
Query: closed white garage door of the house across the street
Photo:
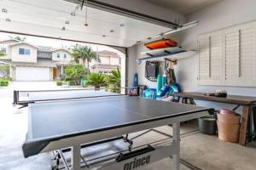
{"type": "Polygon", "coordinates": [[[49,81],[49,68],[16,67],[17,81],[49,81]]]}

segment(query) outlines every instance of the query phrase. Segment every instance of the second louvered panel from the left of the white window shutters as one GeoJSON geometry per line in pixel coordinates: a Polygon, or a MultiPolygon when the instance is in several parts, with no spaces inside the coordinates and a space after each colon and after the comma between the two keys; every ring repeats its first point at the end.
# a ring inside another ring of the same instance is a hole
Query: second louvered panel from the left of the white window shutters
{"type": "Polygon", "coordinates": [[[210,37],[210,79],[221,81],[222,78],[222,34],[212,34],[210,37]]]}

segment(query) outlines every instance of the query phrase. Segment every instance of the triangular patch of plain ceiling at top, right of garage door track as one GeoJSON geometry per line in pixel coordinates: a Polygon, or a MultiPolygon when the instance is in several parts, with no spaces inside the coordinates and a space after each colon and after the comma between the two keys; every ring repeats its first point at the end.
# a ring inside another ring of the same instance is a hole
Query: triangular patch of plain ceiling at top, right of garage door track
{"type": "Polygon", "coordinates": [[[161,7],[171,8],[182,14],[190,14],[200,8],[205,8],[213,3],[224,0],[145,0],[161,7]]]}

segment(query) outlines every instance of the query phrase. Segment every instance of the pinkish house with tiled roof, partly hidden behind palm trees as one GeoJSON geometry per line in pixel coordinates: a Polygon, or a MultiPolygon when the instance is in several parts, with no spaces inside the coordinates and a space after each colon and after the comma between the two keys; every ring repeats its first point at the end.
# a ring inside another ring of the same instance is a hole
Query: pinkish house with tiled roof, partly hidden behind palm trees
{"type": "Polygon", "coordinates": [[[96,62],[96,60],[92,61],[90,65],[92,72],[109,74],[112,70],[120,69],[121,58],[118,54],[108,50],[100,51],[97,54],[100,62],[96,62]]]}

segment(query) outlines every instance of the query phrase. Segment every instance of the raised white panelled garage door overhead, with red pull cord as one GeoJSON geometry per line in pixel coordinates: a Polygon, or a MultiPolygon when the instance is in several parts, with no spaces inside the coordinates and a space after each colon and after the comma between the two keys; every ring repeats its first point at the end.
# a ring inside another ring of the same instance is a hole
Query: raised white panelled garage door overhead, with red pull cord
{"type": "Polygon", "coordinates": [[[88,8],[84,26],[85,8],[75,11],[77,4],[62,0],[0,0],[0,7],[0,31],[130,47],[170,30],[95,8],[88,8]]]}

